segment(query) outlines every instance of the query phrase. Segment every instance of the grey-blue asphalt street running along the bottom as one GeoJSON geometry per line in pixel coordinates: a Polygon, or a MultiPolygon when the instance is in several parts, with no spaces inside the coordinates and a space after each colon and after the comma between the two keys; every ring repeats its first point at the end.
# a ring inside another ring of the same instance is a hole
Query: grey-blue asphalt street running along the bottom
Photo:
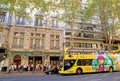
{"type": "Polygon", "coordinates": [[[0,81],[120,81],[120,72],[82,75],[1,76],[0,81]]]}

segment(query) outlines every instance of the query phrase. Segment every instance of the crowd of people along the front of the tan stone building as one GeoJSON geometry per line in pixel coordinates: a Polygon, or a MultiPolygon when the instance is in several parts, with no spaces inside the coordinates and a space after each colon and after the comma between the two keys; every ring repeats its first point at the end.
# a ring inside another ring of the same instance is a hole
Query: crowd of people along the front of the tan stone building
{"type": "Polygon", "coordinates": [[[33,69],[35,72],[43,72],[43,71],[51,70],[52,68],[56,66],[57,66],[56,64],[43,65],[43,64],[38,63],[35,66],[33,66],[33,64],[16,65],[14,63],[10,65],[9,73],[14,73],[16,71],[22,73],[25,71],[33,71],[33,69]]]}

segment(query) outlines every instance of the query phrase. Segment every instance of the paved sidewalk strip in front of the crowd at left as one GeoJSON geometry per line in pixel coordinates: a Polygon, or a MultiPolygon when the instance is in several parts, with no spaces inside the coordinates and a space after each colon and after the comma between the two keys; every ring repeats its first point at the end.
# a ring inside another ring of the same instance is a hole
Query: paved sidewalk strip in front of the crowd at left
{"type": "Polygon", "coordinates": [[[0,72],[0,76],[43,76],[46,75],[44,72],[14,72],[14,73],[8,73],[8,72],[0,72]]]}

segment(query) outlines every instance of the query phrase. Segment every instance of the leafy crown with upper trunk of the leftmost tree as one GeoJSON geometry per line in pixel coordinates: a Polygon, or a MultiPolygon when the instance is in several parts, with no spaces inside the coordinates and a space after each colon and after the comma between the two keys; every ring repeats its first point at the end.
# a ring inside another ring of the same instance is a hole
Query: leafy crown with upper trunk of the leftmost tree
{"type": "Polygon", "coordinates": [[[13,15],[14,27],[16,25],[16,16],[21,15],[27,17],[26,9],[30,7],[27,0],[0,0],[0,12],[5,10],[9,12],[10,15],[13,15]],[[4,7],[3,7],[4,6],[4,7]]]}

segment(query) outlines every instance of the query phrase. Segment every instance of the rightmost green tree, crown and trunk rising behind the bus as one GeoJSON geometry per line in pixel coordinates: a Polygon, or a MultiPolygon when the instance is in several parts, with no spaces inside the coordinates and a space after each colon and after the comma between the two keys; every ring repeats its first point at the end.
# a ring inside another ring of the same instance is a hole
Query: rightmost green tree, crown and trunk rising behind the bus
{"type": "Polygon", "coordinates": [[[99,16],[101,26],[103,27],[107,49],[110,51],[110,44],[114,42],[117,36],[117,30],[120,26],[120,1],[119,0],[87,0],[88,8],[84,12],[84,19],[91,19],[94,15],[99,16]]]}

